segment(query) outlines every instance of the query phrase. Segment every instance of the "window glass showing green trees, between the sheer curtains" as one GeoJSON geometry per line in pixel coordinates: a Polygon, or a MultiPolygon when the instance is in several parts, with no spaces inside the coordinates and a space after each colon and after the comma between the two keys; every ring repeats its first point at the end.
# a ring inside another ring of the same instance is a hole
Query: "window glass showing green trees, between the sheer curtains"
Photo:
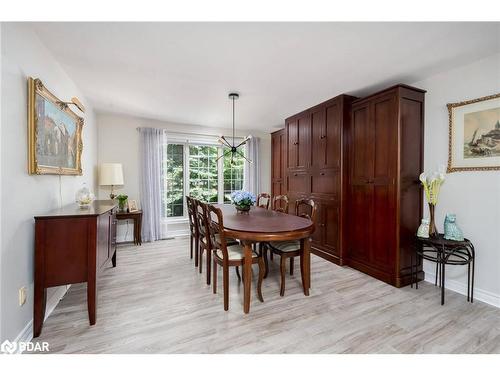
{"type": "Polygon", "coordinates": [[[228,155],[217,161],[226,150],[220,145],[188,142],[165,145],[163,217],[185,218],[186,195],[204,202],[228,203],[233,191],[243,189],[245,159],[235,155],[231,163],[228,155]]]}

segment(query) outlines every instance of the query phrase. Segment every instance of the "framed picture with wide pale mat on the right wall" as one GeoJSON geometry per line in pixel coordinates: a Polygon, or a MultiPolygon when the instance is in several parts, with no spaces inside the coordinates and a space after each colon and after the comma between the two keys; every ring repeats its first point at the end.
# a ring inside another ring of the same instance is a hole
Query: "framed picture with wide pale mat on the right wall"
{"type": "Polygon", "coordinates": [[[447,106],[447,172],[500,170],[500,94],[447,106]]]}

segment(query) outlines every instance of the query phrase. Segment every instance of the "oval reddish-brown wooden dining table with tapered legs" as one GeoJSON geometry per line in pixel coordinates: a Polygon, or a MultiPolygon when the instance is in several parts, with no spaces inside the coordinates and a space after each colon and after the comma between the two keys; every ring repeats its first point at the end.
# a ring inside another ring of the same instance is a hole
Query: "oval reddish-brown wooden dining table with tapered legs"
{"type": "Polygon", "coordinates": [[[252,284],[252,244],[255,242],[300,240],[303,249],[301,257],[301,276],[304,294],[309,295],[311,287],[311,243],[314,232],[311,220],[252,207],[250,212],[237,213],[230,204],[216,204],[223,214],[224,229],[228,237],[241,240],[245,248],[243,265],[243,311],[250,311],[250,289],[252,284]]]}

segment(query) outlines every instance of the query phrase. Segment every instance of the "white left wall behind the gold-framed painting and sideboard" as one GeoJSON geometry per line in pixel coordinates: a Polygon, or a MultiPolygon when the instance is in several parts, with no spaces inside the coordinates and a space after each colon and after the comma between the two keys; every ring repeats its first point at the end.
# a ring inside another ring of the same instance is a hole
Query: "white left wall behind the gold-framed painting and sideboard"
{"type": "Polygon", "coordinates": [[[75,192],[83,182],[95,186],[97,130],[92,108],[28,25],[3,23],[1,39],[0,341],[3,341],[22,333],[33,315],[33,216],[60,204],[58,176],[27,173],[27,77],[40,78],[61,99],[77,96],[86,104],[84,174],[61,177],[63,204],[74,202],[75,192]],[[26,304],[19,306],[18,290],[22,286],[28,288],[28,298],[26,304]]]}

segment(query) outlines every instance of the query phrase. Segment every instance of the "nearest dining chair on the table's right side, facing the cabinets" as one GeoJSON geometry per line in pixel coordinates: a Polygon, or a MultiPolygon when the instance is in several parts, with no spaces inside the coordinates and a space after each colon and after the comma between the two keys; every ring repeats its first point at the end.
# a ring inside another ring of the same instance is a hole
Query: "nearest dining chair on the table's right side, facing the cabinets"
{"type": "MultiPolygon", "coordinates": [[[[316,220],[317,206],[312,199],[298,199],[295,201],[295,215],[305,217],[312,222],[316,220]]],[[[280,296],[285,295],[285,273],[286,273],[286,260],[290,259],[290,275],[293,275],[294,259],[300,256],[300,273],[302,277],[302,284],[304,284],[304,272],[302,269],[303,251],[301,241],[310,241],[309,238],[303,240],[292,241],[271,241],[265,244],[272,253],[279,255],[280,271],[281,271],[281,287],[280,296]]],[[[267,258],[267,251],[263,249],[263,257],[267,258]]],[[[266,259],[267,260],[267,259],[266,259]]],[[[265,262],[266,262],[265,260],[265,262]]]]}

